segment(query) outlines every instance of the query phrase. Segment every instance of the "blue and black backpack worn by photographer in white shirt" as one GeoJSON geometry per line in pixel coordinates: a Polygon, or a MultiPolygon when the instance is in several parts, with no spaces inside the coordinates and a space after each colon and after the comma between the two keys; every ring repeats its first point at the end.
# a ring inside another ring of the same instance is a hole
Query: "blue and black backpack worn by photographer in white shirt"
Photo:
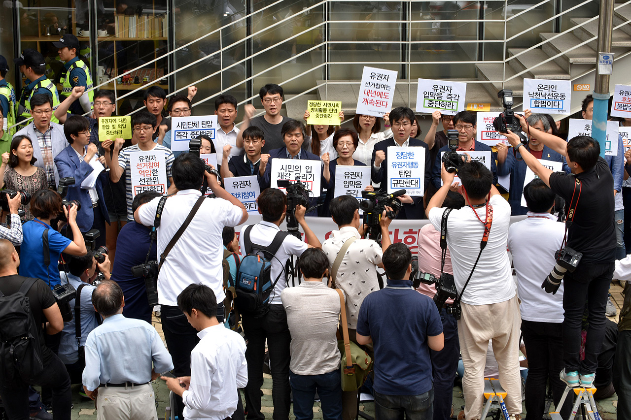
{"type": "Polygon", "coordinates": [[[237,269],[237,280],[235,282],[235,305],[240,313],[262,317],[269,310],[269,295],[278,283],[282,272],[272,281],[271,260],[283,244],[288,232],[278,231],[274,240],[267,247],[262,247],[252,243],[250,231],[252,226],[247,226],[244,235],[245,252],[247,255],[241,260],[237,269]]]}

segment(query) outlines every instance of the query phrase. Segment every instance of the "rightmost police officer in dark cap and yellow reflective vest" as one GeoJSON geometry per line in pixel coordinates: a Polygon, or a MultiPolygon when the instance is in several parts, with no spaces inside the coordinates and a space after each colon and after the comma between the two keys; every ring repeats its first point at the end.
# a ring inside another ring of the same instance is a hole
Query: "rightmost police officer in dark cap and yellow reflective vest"
{"type": "Polygon", "coordinates": [[[63,85],[61,91],[62,100],[70,96],[74,86],[85,86],[87,95],[81,95],[78,102],[73,102],[70,105],[69,110],[71,114],[78,115],[90,112],[94,102],[93,83],[88,66],[78,56],[80,49],[79,40],[73,34],[66,33],[59,41],[53,42],[52,45],[59,49],[59,58],[64,62],[64,70],[62,70],[61,78],[59,79],[59,83],[63,85]]]}

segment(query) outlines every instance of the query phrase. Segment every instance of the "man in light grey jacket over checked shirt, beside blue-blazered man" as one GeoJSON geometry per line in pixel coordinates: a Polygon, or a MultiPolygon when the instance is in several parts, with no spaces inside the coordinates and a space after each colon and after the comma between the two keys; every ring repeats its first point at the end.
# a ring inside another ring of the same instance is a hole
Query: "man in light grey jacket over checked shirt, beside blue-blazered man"
{"type": "Polygon", "coordinates": [[[44,169],[48,185],[57,189],[59,173],[53,158],[68,146],[62,125],[52,122],[52,98],[44,93],[33,95],[30,99],[33,122],[15,133],[16,136],[27,136],[33,141],[33,158],[35,166],[44,169]],[[37,139],[37,141],[35,141],[37,139]]]}

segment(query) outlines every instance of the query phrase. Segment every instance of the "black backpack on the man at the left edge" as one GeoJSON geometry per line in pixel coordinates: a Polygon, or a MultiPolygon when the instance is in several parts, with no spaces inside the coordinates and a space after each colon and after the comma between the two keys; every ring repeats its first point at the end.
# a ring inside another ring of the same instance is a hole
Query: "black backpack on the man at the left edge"
{"type": "Polygon", "coordinates": [[[39,326],[26,296],[36,281],[25,279],[13,295],[0,291],[0,380],[4,383],[33,382],[44,370],[39,326]]]}

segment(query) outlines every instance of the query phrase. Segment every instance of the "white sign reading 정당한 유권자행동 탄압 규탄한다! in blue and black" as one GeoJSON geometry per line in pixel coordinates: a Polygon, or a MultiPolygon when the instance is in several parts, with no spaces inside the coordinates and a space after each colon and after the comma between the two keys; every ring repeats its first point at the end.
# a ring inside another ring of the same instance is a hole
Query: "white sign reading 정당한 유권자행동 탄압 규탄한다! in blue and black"
{"type": "Polygon", "coordinates": [[[408,195],[425,194],[425,148],[388,146],[387,192],[406,190],[408,195]]]}

